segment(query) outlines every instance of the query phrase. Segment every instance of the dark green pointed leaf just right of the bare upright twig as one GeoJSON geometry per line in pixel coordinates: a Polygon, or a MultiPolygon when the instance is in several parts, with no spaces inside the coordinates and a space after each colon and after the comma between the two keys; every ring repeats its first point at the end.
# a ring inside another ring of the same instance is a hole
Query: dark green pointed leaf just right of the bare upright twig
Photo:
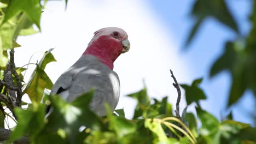
{"type": "Polygon", "coordinates": [[[205,93],[198,86],[202,82],[202,79],[196,79],[193,81],[192,85],[182,84],[181,87],[185,89],[186,101],[190,105],[193,102],[198,102],[199,100],[206,99],[205,93]]]}

